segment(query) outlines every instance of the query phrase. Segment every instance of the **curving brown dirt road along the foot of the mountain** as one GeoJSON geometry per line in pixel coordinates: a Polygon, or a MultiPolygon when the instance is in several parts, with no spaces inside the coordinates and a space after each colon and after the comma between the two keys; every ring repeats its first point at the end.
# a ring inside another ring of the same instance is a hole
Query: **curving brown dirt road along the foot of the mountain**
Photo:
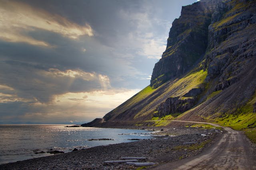
{"type": "MultiPolygon", "coordinates": [[[[205,123],[183,121],[190,123],[205,123]]],[[[221,127],[213,123],[205,123],[221,127]]],[[[224,133],[202,153],[188,159],[161,164],[154,170],[256,170],[255,148],[246,136],[230,127],[222,127],[224,133]]]]}

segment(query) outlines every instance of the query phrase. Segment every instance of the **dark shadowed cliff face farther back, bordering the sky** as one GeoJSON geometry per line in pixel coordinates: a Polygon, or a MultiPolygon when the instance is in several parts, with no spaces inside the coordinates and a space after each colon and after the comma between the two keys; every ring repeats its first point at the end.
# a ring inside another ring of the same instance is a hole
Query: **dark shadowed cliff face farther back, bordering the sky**
{"type": "Polygon", "coordinates": [[[172,23],[166,50],[154,66],[150,86],[158,88],[167,80],[184,74],[202,58],[217,2],[219,0],[201,0],[182,7],[180,18],[172,23]]]}

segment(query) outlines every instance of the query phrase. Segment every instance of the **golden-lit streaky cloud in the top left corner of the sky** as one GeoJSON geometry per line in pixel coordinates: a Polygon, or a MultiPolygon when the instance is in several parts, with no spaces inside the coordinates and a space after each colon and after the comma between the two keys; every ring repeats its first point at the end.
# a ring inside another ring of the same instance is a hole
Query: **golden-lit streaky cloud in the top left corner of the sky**
{"type": "Polygon", "coordinates": [[[0,39],[4,41],[51,47],[49,43],[29,35],[37,29],[58,33],[71,39],[77,39],[81,35],[94,35],[88,23],[81,26],[60,15],[32,8],[22,2],[0,0],[0,3],[0,39]]]}

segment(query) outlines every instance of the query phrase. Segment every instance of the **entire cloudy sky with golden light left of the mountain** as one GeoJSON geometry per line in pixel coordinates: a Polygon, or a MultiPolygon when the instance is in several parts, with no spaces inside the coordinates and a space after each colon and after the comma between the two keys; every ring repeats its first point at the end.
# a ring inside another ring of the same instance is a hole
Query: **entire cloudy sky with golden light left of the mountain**
{"type": "Polygon", "coordinates": [[[150,84],[197,0],[0,0],[0,124],[81,124],[150,84]]]}

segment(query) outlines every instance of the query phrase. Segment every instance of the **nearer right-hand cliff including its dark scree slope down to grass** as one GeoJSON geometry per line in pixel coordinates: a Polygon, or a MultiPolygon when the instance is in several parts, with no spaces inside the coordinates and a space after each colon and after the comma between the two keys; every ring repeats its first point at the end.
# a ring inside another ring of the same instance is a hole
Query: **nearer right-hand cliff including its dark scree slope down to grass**
{"type": "MultiPolygon", "coordinates": [[[[235,120],[235,117],[248,114],[244,123],[248,121],[256,126],[256,115],[253,114],[256,100],[256,1],[219,3],[208,27],[208,47],[203,63],[204,70],[208,70],[207,94],[219,94],[188,111],[182,119],[200,116],[205,119],[226,117],[227,120],[233,117],[235,120]]],[[[236,121],[242,123],[242,119],[236,121]]]]}

